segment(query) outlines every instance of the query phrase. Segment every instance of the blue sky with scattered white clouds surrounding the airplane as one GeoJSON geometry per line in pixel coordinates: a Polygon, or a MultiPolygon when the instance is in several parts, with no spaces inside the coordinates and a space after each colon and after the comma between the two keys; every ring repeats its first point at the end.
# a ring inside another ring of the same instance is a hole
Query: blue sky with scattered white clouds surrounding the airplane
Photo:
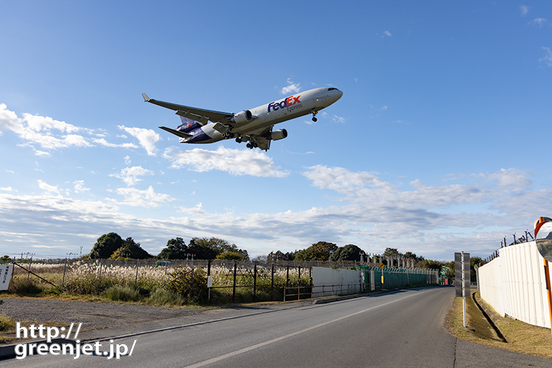
{"type": "Polygon", "coordinates": [[[551,216],[548,1],[7,1],[0,32],[0,254],[117,232],[451,260],[551,216]],[[179,144],[141,97],[239,112],[324,86],[342,99],[268,152],[179,144]]]}

